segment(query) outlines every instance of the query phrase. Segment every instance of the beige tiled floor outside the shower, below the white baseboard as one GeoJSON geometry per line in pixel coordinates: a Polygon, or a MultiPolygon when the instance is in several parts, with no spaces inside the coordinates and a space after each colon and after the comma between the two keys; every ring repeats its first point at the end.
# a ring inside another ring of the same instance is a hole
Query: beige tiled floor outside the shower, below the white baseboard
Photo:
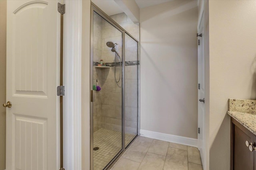
{"type": "Polygon", "coordinates": [[[203,170],[195,147],[138,137],[111,170],[203,170]]]}

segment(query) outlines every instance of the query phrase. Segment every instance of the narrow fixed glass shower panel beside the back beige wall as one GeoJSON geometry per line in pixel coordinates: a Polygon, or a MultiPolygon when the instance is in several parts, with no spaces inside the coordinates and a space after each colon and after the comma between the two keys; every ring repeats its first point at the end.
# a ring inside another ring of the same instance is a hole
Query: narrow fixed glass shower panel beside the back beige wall
{"type": "Polygon", "coordinates": [[[125,147],[138,135],[138,43],[125,33],[125,147]]]}

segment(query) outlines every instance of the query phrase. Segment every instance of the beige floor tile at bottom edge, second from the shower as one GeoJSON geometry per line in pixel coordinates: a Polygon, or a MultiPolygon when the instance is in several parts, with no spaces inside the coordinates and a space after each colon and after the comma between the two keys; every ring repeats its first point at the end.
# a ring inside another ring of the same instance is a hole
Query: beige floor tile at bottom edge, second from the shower
{"type": "Polygon", "coordinates": [[[139,170],[162,170],[164,167],[164,160],[165,156],[148,152],[141,162],[139,170]]]}

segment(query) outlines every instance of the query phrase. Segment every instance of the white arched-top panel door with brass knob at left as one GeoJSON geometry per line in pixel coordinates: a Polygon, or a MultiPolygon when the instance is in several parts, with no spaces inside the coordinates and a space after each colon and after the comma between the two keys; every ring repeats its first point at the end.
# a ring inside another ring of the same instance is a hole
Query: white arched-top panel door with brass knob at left
{"type": "Polygon", "coordinates": [[[58,1],[7,1],[6,170],[59,170],[58,1]]]}

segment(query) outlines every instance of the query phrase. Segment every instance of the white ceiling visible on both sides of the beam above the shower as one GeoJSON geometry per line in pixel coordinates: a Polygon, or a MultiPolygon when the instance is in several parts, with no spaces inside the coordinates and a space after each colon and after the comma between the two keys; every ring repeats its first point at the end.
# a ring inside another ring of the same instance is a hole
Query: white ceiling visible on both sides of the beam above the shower
{"type": "MultiPolygon", "coordinates": [[[[157,4],[162,4],[172,0],[135,0],[139,8],[146,8],[157,4]]],[[[92,0],[92,2],[104,11],[108,16],[120,14],[123,11],[119,8],[118,4],[114,0],[92,0]]]]}

